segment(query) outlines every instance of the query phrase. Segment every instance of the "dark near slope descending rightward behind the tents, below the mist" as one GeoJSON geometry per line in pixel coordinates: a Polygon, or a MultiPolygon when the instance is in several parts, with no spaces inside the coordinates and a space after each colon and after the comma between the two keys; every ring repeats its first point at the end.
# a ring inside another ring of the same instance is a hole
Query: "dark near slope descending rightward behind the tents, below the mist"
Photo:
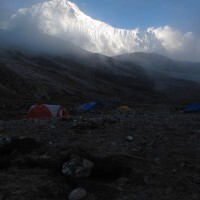
{"type": "Polygon", "coordinates": [[[98,54],[77,59],[7,51],[1,53],[0,72],[1,102],[172,103],[197,100],[200,92],[195,82],[98,54]]]}

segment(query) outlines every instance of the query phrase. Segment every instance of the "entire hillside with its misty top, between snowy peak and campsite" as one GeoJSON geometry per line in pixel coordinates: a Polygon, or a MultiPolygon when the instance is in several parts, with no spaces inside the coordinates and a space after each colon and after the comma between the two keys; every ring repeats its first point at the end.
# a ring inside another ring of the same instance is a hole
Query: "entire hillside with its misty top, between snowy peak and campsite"
{"type": "MultiPolygon", "coordinates": [[[[170,75],[190,72],[190,65],[194,63],[185,62],[182,70],[182,62],[167,62],[168,58],[159,55],[129,54],[112,58],[45,34],[26,37],[23,33],[0,31],[0,39],[4,41],[0,46],[2,102],[162,103],[199,99],[197,82],[170,75]],[[155,66],[136,62],[149,56],[155,66]]],[[[193,68],[199,75],[196,65],[193,68]]]]}

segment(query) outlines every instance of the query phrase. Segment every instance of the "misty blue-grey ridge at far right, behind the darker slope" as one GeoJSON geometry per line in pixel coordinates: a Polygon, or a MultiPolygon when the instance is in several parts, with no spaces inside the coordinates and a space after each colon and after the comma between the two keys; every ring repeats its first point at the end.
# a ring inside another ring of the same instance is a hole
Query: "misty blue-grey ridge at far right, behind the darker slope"
{"type": "Polygon", "coordinates": [[[116,56],[122,62],[138,64],[151,73],[200,82],[200,63],[172,60],[154,53],[131,53],[116,56]]]}

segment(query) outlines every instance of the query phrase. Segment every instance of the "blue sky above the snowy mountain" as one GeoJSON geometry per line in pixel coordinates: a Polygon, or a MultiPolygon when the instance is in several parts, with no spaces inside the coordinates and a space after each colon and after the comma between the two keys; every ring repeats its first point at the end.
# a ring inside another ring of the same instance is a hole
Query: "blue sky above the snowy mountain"
{"type": "MultiPolygon", "coordinates": [[[[21,7],[45,0],[0,0],[0,22],[21,7]]],[[[200,0],[71,0],[92,18],[118,28],[169,25],[200,34],[200,0]]]]}

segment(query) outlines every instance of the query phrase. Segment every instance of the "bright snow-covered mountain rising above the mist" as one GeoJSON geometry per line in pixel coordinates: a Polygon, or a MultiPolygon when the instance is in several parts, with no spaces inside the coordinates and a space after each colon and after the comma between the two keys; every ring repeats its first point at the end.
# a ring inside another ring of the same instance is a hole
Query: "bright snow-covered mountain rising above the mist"
{"type": "MultiPolygon", "coordinates": [[[[8,30],[39,30],[70,41],[91,52],[119,55],[130,52],[166,51],[155,29],[125,30],[94,20],[68,0],[50,0],[22,8],[5,23],[8,30]]],[[[30,33],[30,32],[29,32],[30,33]]]]}

